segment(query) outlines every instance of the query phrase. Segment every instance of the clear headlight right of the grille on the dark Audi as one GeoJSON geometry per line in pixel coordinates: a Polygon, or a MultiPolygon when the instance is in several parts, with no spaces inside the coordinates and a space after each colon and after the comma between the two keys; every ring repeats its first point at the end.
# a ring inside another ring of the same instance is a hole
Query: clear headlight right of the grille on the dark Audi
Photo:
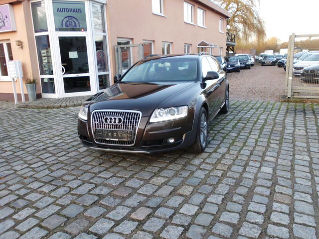
{"type": "Polygon", "coordinates": [[[181,119],[187,116],[188,106],[170,107],[156,109],[151,116],[150,122],[160,122],[173,119],[181,119]]]}

